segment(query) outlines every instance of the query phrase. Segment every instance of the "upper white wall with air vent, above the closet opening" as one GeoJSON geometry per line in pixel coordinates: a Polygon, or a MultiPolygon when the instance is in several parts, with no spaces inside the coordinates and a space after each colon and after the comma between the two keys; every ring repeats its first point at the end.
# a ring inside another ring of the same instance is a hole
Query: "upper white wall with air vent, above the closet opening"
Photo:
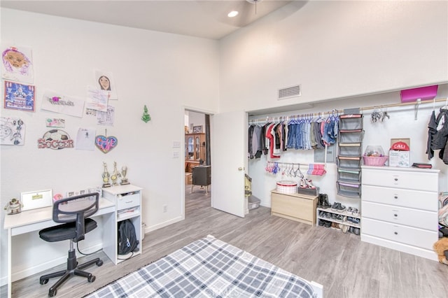
{"type": "Polygon", "coordinates": [[[220,111],[447,82],[447,1],[308,1],[287,13],[296,5],[221,40],[220,111]],[[302,97],[277,101],[297,84],[302,97]]]}

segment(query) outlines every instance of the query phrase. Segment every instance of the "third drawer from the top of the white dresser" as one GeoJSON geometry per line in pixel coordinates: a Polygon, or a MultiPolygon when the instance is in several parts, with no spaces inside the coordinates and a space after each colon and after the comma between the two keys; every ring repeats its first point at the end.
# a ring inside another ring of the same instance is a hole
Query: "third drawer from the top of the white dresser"
{"type": "Polygon", "coordinates": [[[364,218],[384,220],[393,224],[408,225],[420,229],[437,231],[437,212],[423,211],[392,205],[361,202],[361,210],[364,218]]]}

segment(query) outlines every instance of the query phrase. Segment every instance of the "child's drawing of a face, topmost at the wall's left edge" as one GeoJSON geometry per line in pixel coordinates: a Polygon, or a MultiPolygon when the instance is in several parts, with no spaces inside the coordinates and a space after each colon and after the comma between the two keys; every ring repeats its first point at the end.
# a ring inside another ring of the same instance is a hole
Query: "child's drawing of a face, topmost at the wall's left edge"
{"type": "Polygon", "coordinates": [[[1,52],[1,77],[24,83],[33,83],[34,71],[31,48],[3,47],[1,52]]]}

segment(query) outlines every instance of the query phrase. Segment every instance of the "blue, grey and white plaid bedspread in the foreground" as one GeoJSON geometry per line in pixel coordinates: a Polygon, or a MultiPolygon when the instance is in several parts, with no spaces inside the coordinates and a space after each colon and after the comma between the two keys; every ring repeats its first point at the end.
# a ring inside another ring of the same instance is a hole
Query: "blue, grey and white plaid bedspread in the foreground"
{"type": "Polygon", "coordinates": [[[316,297],[311,285],[213,236],[86,297],[316,297]]]}

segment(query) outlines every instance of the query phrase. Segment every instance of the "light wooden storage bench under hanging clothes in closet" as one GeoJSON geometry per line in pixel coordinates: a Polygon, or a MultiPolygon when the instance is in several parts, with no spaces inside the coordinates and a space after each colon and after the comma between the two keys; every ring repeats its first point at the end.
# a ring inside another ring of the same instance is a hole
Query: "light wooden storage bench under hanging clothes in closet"
{"type": "Polygon", "coordinates": [[[316,207],[316,196],[271,191],[271,215],[314,226],[316,225],[316,207]]]}

